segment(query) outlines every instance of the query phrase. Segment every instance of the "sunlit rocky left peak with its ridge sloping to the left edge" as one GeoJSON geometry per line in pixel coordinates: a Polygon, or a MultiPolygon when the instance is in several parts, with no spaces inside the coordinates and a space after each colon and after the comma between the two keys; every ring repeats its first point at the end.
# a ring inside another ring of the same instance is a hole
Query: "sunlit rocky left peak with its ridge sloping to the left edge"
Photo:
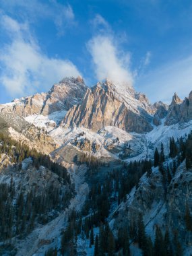
{"type": "Polygon", "coordinates": [[[50,115],[55,111],[69,110],[71,106],[82,101],[86,89],[81,77],[65,78],[59,84],[55,84],[47,93],[34,94],[34,96],[16,99],[9,104],[1,104],[0,112],[27,117],[28,115],[50,115]]]}

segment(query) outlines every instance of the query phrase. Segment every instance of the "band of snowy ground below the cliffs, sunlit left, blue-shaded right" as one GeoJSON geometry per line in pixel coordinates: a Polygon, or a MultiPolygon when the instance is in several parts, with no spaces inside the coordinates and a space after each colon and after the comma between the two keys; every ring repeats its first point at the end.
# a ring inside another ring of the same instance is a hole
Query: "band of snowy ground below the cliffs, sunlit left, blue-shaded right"
{"type": "Polygon", "coordinates": [[[186,134],[192,130],[192,121],[189,123],[176,124],[166,126],[164,120],[162,125],[156,127],[149,133],[127,133],[117,127],[104,127],[98,132],[91,131],[85,127],[61,127],[59,123],[65,117],[66,111],[55,112],[49,116],[32,115],[26,117],[26,121],[33,123],[37,127],[44,127],[49,135],[53,137],[56,143],[60,146],[66,146],[71,143],[73,139],[83,140],[89,139],[92,143],[98,144],[100,148],[96,152],[90,152],[94,156],[119,158],[119,152],[109,152],[108,146],[113,145],[115,148],[123,152],[125,143],[128,143],[133,150],[132,154],[127,158],[127,162],[133,160],[139,160],[144,158],[152,158],[154,155],[154,149],[157,147],[160,149],[160,143],[164,144],[165,154],[168,154],[168,145],[170,137],[174,137],[175,140],[179,137],[185,137],[186,134]],[[84,135],[79,135],[84,133],[84,135]],[[118,138],[118,141],[117,141],[118,138]]]}

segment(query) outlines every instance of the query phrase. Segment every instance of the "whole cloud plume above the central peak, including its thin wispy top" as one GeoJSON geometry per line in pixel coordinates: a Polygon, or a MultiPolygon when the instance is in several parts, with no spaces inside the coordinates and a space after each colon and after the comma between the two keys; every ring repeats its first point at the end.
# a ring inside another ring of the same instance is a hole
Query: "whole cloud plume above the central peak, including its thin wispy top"
{"type": "Polygon", "coordinates": [[[133,75],[129,69],[130,54],[121,51],[113,30],[101,15],[94,20],[94,36],[88,42],[94,72],[98,80],[110,79],[121,85],[132,86],[133,75]]]}

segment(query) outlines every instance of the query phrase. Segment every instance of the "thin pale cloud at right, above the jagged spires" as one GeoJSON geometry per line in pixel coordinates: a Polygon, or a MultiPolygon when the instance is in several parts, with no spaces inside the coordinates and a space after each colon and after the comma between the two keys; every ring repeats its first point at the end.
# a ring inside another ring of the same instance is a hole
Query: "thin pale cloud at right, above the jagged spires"
{"type": "Polygon", "coordinates": [[[152,102],[162,100],[170,103],[174,92],[185,98],[192,90],[192,55],[137,77],[135,86],[145,92],[152,102]]]}

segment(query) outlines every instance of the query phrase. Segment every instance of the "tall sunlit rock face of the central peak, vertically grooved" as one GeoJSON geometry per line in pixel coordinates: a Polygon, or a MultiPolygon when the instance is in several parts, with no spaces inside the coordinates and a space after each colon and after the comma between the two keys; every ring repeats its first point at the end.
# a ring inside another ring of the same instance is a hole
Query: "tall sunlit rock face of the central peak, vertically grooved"
{"type": "Polygon", "coordinates": [[[113,125],[125,131],[142,133],[152,130],[152,112],[146,96],[106,80],[87,90],[82,104],[68,111],[62,125],[84,126],[94,131],[113,125]]]}

